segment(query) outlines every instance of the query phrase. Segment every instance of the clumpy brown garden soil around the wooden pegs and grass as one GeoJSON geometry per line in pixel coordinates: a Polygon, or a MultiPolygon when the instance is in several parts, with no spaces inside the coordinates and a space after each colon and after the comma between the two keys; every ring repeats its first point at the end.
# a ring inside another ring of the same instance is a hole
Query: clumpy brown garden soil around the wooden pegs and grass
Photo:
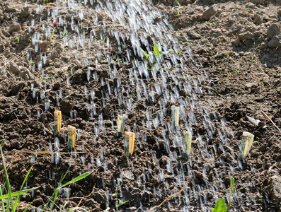
{"type": "MultiPolygon", "coordinates": [[[[131,30],[110,18],[101,6],[107,1],[75,3],[84,18],[62,1],[0,1],[0,140],[12,191],[30,167],[25,188],[40,186],[21,201],[45,206],[71,165],[64,182],[91,175],[62,189],[54,211],[115,211],[117,199],[128,201],[120,211],[210,211],[218,198],[229,202],[231,177],[230,211],[281,211],[280,1],[144,2],[160,12],[154,25],[168,20],[165,33],[180,44],[175,54],[185,55],[186,68],[173,65],[171,74],[156,76],[166,78],[165,92],[157,90],[151,66],[150,80],[144,73],[139,82],[134,78],[136,63],[127,55],[144,58],[134,54],[132,40],[120,45],[110,33],[130,37],[131,30]],[[73,48],[80,40],[86,45],[73,48]],[[173,134],[171,105],[180,105],[173,134]],[[54,134],[56,109],[62,131],[54,134]],[[129,163],[117,134],[121,113],[127,114],[125,131],[136,133],[129,163]],[[77,129],[72,151],[68,125],[77,129]],[[193,146],[183,158],[176,135],[181,141],[179,131],[187,128],[193,146]],[[255,138],[241,161],[243,131],[255,138]]],[[[2,161],[0,167],[3,185],[2,161]]]]}

